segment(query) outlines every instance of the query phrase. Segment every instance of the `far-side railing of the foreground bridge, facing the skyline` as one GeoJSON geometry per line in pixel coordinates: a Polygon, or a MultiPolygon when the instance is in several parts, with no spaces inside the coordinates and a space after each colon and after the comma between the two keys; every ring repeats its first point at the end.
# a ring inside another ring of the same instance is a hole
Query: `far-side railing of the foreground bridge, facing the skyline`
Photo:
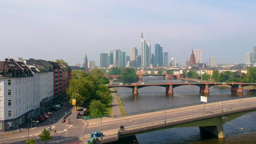
{"type": "MultiPolygon", "coordinates": [[[[249,96],[246,98],[252,98],[255,96],[249,96]]],[[[218,101],[226,101],[226,100],[234,100],[234,99],[243,99],[245,97],[232,97],[232,98],[226,98],[226,99],[219,99],[219,100],[211,100],[208,101],[207,103],[216,103],[218,101]]],[[[177,109],[177,108],[181,108],[181,107],[187,107],[187,106],[194,106],[194,105],[200,105],[202,103],[193,103],[193,104],[187,104],[187,105],[178,105],[178,106],[170,106],[170,107],[166,107],[166,110],[171,110],[171,109],[177,109]]],[[[147,110],[147,111],[138,111],[138,112],[131,112],[131,113],[126,113],[126,115],[115,115],[114,117],[124,117],[124,116],[132,116],[132,115],[139,115],[142,113],[149,113],[149,112],[156,112],[156,111],[163,111],[165,110],[164,107],[160,108],[160,109],[152,109],[152,110],[147,110]]]]}

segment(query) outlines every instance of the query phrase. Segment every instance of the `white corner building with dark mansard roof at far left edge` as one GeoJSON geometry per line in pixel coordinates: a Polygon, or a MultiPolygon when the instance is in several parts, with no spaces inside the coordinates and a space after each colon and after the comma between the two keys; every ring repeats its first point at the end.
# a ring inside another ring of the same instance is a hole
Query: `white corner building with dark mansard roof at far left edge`
{"type": "Polygon", "coordinates": [[[18,129],[33,117],[33,74],[23,62],[0,62],[0,131],[18,129]]]}

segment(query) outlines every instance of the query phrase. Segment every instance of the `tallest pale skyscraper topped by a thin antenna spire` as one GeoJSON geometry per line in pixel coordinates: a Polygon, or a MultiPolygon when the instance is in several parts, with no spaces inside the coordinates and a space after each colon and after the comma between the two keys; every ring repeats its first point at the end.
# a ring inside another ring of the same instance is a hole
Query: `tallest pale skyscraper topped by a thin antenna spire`
{"type": "Polygon", "coordinates": [[[142,67],[149,67],[151,61],[151,45],[150,41],[143,38],[143,33],[141,33],[141,64],[142,67]]]}

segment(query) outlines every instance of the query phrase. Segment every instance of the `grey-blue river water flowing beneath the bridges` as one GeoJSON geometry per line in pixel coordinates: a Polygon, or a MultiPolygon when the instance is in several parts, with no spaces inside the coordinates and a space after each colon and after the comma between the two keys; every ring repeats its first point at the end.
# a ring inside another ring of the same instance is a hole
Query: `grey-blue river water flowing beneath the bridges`
{"type": "MultiPolygon", "coordinates": [[[[162,77],[143,77],[144,83],[164,83],[181,82],[183,80],[163,80],[162,77]]],[[[166,107],[181,106],[200,103],[199,87],[197,86],[179,86],[173,89],[174,94],[165,94],[164,87],[150,86],[138,89],[138,95],[133,96],[131,88],[117,88],[126,113],[147,111],[154,109],[163,109],[166,107]]],[[[203,94],[202,94],[203,95],[203,94]]],[[[208,101],[246,98],[256,96],[255,92],[244,91],[243,94],[231,93],[230,87],[213,86],[210,88],[210,94],[207,95],[208,101]]],[[[230,123],[243,127],[240,130],[230,124],[223,125],[226,137],[218,139],[210,133],[201,134],[199,127],[172,128],[166,130],[154,131],[146,134],[136,135],[136,142],[146,143],[256,143],[256,112],[247,113],[238,117],[230,123]]],[[[134,139],[134,138],[133,138],[134,139]]],[[[134,143],[133,140],[120,140],[117,143],[134,143]]]]}

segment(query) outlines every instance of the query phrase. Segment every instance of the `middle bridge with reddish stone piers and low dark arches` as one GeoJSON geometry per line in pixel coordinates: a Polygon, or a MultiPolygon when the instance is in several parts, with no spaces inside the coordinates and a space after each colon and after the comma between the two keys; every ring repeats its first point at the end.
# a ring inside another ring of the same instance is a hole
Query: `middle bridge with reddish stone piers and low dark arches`
{"type": "Polygon", "coordinates": [[[237,92],[237,93],[243,93],[243,87],[245,86],[256,86],[256,83],[236,83],[236,82],[229,82],[229,83],[213,83],[213,82],[202,82],[202,83],[150,83],[150,84],[139,84],[139,83],[132,83],[131,85],[112,85],[112,86],[106,86],[109,88],[112,87],[128,87],[132,88],[133,94],[138,94],[138,89],[143,87],[149,87],[149,86],[160,86],[165,87],[165,92],[168,94],[173,94],[173,88],[179,87],[179,86],[187,86],[187,85],[194,85],[198,86],[199,92],[201,93],[210,93],[209,88],[212,86],[219,86],[219,85],[228,85],[231,87],[231,92],[237,92]]]}

